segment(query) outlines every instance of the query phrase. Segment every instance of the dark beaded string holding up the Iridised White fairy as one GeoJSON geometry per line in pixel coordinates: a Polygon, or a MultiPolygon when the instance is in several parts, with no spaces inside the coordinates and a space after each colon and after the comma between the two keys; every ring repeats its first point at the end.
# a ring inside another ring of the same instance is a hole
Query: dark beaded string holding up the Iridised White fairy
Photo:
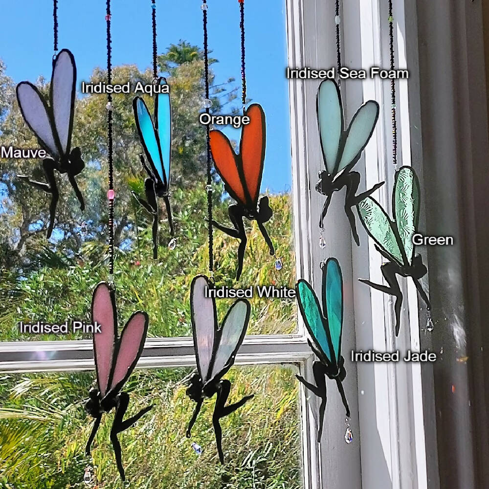
{"type": "MultiPolygon", "coordinates": [[[[209,98],[209,47],[207,44],[207,0],[202,0],[202,23],[204,33],[204,86],[205,86],[205,99],[204,110],[207,114],[210,114],[210,108],[212,101],[209,98]]],[[[209,275],[211,281],[214,280],[214,236],[212,228],[212,156],[211,156],[211,143],[210,143],[210,128],[209,124],[205,126],[205,145],[207,150],[207,183],[205,185],[205,191],[207,193],[207,223],[209,234],[209,275]]]]}

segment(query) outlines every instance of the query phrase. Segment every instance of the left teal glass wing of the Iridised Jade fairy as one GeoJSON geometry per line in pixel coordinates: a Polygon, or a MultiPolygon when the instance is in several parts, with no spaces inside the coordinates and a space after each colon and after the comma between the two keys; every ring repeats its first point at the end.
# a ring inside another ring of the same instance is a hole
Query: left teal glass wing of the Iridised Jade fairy
{"type": "Polygon", "coordinates": [[[326,358],[331,361],[333,356],[331,355],[330,341],[324,329],[321,307],[314,290],[312,290],[308,282],[302,279],[297,282],[295,290],[302,318],[306,323],[312,340],[326,358]]]}

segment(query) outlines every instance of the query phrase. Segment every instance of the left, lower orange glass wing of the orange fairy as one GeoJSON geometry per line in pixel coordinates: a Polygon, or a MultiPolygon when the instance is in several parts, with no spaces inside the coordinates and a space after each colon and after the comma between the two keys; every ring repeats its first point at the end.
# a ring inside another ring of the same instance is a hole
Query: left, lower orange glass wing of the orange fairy
{"type": "Polygon", "coordinates": [[[229,187],[231,197],[246,206],[245,192],[236,163],[237,155],[229,139],[221,131],[215,130],[210,131],[209,137],[212,159],[217,172],[229,187]]]}

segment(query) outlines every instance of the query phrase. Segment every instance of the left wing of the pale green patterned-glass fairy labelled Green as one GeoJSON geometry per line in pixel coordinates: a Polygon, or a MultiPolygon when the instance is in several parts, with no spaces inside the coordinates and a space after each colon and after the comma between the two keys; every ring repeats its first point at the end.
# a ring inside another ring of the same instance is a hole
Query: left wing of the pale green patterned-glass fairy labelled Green
{"type": "Polygon", "coordinates": [[[402,253],[392,229],[392,224],[380,204],[367,197],[358,204],[358,215],[363,227],[372,239],[400,265],[403,265],[402,253]]]}

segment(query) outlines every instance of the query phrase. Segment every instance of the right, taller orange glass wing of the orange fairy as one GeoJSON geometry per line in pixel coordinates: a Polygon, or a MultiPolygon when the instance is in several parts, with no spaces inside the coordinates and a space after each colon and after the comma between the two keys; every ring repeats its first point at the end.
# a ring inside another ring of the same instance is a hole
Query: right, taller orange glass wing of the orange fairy
{"type": "Polygon", "coordinates": [[[250,122],[243,126],[240,155],[243,162],[244,183],[252,202],[256,204],[265,160],[265,112],[261,105],[252,104],[245,115],[249,117],[250,122]]]}

